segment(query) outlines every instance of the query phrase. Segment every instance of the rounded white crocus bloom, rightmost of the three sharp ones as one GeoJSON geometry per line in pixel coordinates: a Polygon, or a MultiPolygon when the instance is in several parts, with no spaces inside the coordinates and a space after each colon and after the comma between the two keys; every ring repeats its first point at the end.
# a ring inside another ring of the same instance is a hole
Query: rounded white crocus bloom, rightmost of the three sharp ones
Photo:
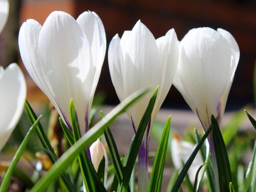
{"type": "Polygon", "coordinates": [[[238,44],[223,29],[197,28],[181,40],[179,51],[174,86],[207,129],[211,115],[222,119],[239,61],[238,44]]]}

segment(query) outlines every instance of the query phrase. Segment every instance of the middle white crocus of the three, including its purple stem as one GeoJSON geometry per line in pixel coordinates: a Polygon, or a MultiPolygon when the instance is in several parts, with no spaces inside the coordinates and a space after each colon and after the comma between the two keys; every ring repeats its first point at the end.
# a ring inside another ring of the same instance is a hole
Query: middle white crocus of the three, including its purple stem
{"type": "MultiPolygon", "coordinates": [[[[159,86],[151,121],[139,151],[138,179],[139,190],[141,191],[147,188],[147,154],[150,129],[172,85],[178,65],[178,54],[178,39],[174,29],[169,30],[165,36],[155,39],[140,20],[132,31],[125,31],[121,39],[115,35],[110,42],[110,74],[120,101],[142,88],[150,87],[154,91],[159,86]],[[140,177],[143,174],[144,176],[140,177]],[[144,186],[141,187],[142,182],[144,182],[144,186]]],[[[127,111],[135,132],[153,91],[127,111]]]]}

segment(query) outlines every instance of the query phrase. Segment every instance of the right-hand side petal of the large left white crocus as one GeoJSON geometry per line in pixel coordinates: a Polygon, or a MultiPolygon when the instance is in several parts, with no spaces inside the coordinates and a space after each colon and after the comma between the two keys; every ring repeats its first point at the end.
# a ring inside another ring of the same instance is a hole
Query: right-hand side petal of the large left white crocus
{"type": "Polygon", "coordinates": [[[91,92],[91,98],[93,98],[106,52],[105,30],[101,19],[95,12],[83,12],[77,18],[77,23],[80,25],[83,33],[86,34],[91,48],[93,65],[95,67],[91,92]]]}

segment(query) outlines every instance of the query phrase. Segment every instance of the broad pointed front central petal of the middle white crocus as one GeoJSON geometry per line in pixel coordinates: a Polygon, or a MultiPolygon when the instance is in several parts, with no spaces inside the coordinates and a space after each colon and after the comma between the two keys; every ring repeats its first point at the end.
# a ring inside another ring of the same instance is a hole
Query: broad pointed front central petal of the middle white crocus
{"type": "MultiPolygon", "coordinates": [[[[156,89],[161,84],[162,74],[158,48],[153,34],[138,21],[127,37],[126,46],[123,69],[125,72],[123,74],[125,97],[141,88],[156,89]]],[[[152,93],[153,91],[129,110],[136,126],[142,118],[152,93]]]]}

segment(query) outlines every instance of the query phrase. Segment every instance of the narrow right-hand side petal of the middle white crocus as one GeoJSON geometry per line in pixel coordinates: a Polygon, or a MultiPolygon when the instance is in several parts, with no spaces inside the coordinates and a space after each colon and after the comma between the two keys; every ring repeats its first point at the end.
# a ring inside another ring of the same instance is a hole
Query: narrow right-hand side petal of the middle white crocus
{"type": "Polygon", "coordinates": [[[157,109],[160,109],[177,71],[179,47],[178,38],[174,29],[169,30],[165,36],[158,38],[157,46],[160,55],[160,63],[162,65],[162,81],[158,92],[159,100],[157,101],[157,109]]]}

